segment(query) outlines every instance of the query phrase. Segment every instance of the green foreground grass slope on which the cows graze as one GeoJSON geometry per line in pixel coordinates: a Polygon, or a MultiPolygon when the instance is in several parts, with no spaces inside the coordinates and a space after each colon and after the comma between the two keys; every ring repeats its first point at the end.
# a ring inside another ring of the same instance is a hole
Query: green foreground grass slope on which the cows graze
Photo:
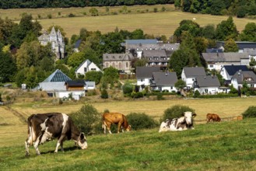
{"type": "MultiPolygon", "coordinates": [[[[56,141],[30,147],[23,140],[0,144],[2,170],[255,170],[256,119],[198,124],[195,130],[158,133],[157,129],[87,137],[80,150],[65,141],[65,152],[54,154],[56,141]]],[[[20,131],[20,134],[23,134],[20,131]]],[[[7,135],[8,136],[8,135],[7,135]]],[[[10,138],[11,136],[9,135],[10,138]]]]}

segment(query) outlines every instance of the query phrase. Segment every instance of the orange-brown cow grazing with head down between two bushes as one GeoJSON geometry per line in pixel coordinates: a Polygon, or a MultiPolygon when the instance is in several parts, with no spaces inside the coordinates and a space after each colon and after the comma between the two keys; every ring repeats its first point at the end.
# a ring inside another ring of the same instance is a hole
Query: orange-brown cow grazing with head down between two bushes
{"type": "Polygon", "coordinates": [[[112,132],[110,131],[111,124],[118,124],[117,133],[119,133],[120,129],[122,129],[122,132],[124,132],[124,129],[126,131],[131,131],[132,127],[128,124],[128,121],[124,114],[122,113],[103,113],[102,116],[102,128],[104,129],[104,134],[106,134],[106,128],[110,134],[112,132]]]}

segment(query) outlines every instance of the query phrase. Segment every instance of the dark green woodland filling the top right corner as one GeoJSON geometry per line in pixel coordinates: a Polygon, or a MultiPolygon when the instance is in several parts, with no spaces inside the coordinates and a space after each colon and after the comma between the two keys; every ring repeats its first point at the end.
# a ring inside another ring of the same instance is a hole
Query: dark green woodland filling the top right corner
{"type": "Polygon", "coordinates": [[[184,12],[212,15],[233,15],[240,18],[256,14],[255,0],[223,1],[223,0],[175,0],[174,5],[184,12]]]}

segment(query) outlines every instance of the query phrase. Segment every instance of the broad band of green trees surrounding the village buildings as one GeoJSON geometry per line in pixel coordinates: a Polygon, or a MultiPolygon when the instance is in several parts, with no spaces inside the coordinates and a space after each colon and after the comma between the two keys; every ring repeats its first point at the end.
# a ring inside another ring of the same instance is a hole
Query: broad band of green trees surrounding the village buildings
{"type": "MultiPolygon", "coordinates": [[[[51,27],[47,29],[49,33],[51,27]]],[[[54,28],[60,30],[65,37],[65,30],[61,26],[54,26],[54,28]]],[[[101,68],[103,54],[124,53],[125,49],[121,43],[127,39],[157,38],[165,43],[181,43],[180,49],[174,51],[170,57],[168,66],[168,69],[177,72],[178,76],[181,75],[181,70],[185,66],[204,66],[201,54],[207,47],[215,47],[216,40],[226,41],[225,51],[238,51],[235,40],[256,42],[256,24],[247,23],[244,30],[239,33],[231,16],[217,26],[202,27],[195,21],[183,20],[175,30],[174,36],[170,38],[154,37],[140,29],[128,31],[116,28],[113,32],[103,34],[100,31],[88,31],[86,28],[81,28],[79,34],[72,35],[70,40],[65,38],[66,57],[56,61],[55,54],[51,51],[51,44],[40,45],[38,41],[40,30],[42,30],[40,23],[33,21],[32,16],[26,13],[23,14],[19,23],[0,18],[0,82],[16,82],[17,86],[26,83],[29,88],[33,88],[56,69],[60,69],[68,77],[75,79],[75,69],[82,61],[89,59],[101,68]],[[81,44],[79,52],[75,53],[73,47],[77,40],[81,40],[81,44]]],[[[135,53],[134,50],[130,52],[135,53]]],[[[132,61],[134,68],[145,64],[146,61],[139,59],[132,61]]],[[[104,85],[106,82],[113,84],[109,81],[115,80],[106,79],[107,77],[102,79],[101,76],[93,72],[93,74],[86,74],[85,77],[79,75],[79,79],[89,79],[101,84],[105,82],[104,85]]]]}

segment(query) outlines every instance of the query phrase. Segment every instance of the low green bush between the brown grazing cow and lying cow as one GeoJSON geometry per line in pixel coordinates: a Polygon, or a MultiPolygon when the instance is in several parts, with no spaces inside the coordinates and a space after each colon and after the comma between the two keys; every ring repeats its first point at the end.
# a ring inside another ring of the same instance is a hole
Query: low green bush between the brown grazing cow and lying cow
{"type": "Polygon", "coordinates": [[[132,130],[151,129],[158,126],[156,121],[145,113],[129,113],[126,117],[128,124],[132,125],[132,130]]]}

